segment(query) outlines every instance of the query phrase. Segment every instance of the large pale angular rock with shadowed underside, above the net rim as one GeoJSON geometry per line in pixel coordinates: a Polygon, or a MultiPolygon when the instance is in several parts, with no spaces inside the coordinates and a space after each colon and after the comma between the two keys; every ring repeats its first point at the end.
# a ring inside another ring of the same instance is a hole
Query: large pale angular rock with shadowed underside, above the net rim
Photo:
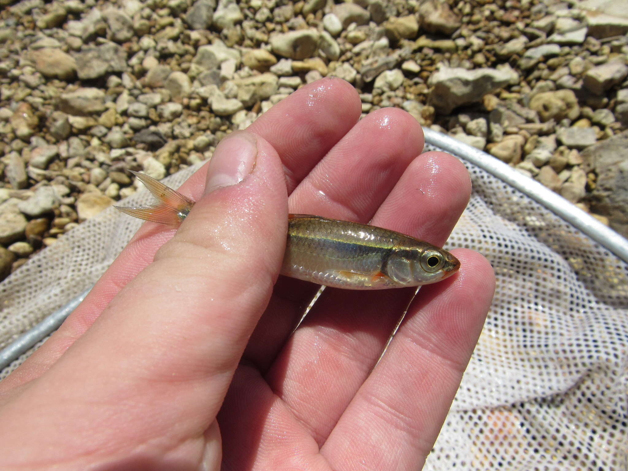
{"type": "Polygon", "coordinates": [[[479,102],[482,96],[507,85],[510,78],[509,73],[492,68],[442,67],[428,82],[434,87],[430,104],[448,114],[458,106],[479,102]]]}

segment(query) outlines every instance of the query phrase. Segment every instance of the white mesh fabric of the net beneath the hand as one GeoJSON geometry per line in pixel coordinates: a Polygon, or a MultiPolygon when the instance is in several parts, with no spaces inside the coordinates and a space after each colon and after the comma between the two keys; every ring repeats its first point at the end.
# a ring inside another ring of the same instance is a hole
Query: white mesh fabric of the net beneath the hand
{"type": "MultiPolygon", "coordinates": [[[[474,190],[446,248],[484,254],[497,290],[425,469],[627,469],[628,267],[465,165],[474,190]]],[[[165,182],[176,188],[197,168],[165,182]]],[[[121,204],[151,201],[143,191],[121,204]]],[[[0,348],[94,284],[141,224],[109,208],[0,283],[0,348]]]]}

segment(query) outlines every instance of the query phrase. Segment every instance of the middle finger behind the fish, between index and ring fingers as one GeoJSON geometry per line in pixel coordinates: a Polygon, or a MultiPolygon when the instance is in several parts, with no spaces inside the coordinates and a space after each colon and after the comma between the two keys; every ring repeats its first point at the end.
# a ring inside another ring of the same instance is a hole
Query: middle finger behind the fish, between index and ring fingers
{"type": "MultiPolygon", "coordinates": [[[[306,176],[289,198],[291,212],[368,222],[423,148],[408,113],[386,108],[364,117],[306,176]]],[[[245,356],[266,371],[318,290],[279,279],[245,356]]]]}

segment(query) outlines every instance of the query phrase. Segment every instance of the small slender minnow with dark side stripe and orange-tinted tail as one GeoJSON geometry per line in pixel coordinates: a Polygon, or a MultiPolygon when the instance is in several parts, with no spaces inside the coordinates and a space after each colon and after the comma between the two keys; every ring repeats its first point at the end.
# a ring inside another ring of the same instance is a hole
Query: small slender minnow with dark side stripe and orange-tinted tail
{"type": "MultiPolygon", "coordinates": [[[[125,214],[179,225],[193,200],[143,173],[131,171],[158,200],[119,207],[125,214]]],[[[310,214],[288,214],[280,273],[345,290],[384,290],[436,283],[460,268],[450,252],[401,232],[310,214]]]]}

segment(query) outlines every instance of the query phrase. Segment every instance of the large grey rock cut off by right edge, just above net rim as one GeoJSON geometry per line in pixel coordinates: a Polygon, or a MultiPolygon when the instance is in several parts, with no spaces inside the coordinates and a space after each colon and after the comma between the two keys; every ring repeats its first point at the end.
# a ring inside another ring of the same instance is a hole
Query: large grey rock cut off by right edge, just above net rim
{"type": "Polygon", "coordinates": [[[588,147],[581,156],[595,171],[595,189],[588,198],[592,212],[608,217],[610,227],[628,237],[628,133],[622,133],[588,147]]]}

